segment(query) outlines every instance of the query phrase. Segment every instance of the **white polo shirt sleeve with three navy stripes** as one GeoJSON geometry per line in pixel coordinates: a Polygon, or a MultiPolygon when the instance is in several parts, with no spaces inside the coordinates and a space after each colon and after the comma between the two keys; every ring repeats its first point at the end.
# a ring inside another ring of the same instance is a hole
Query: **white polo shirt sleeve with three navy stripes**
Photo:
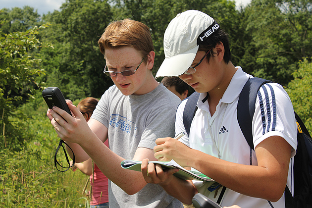
{"type": "Polygon", "coordinates": [[[292,154],[297,149],[297,125],[294,109],[289,96],[277,83],[263,85],[257,96],[253,118],[254,146],[271,136],[284,138],[292,147],[292,154]]]}

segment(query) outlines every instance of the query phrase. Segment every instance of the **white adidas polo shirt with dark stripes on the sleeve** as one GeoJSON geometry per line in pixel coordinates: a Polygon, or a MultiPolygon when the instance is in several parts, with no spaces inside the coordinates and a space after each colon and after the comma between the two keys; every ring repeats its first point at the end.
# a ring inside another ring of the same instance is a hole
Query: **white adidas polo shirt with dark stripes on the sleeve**
{"type": "MultiPolygon", "coordinates": [[[[243,72],[241,67],[237,67],[236,73],[212,116],[209,112],[207,93],[202,93],[197,103],[198,110],[191,124],[190,137],[185,135],[179,141],[211,156],[249,165],[250,147],[237,121],[237,103],[239,94],[250,77],[252,76],[243,72]]],[[[186,100],[177,109],[176,134],[182,131],[186,132],[182,120],[185,104],[186,100]]],[[[254,146],[256,147],[268,137],[280,136],[292,146],[291,156],[293,158],[297,149],[297,125],[292,103],[283,87],[276,83],[263,85],[258,93],[255,106],[253,118],[254,146]]],[[[291,159],[287,181],[291,191],[293,190],[292,161],[293,159],[291,159]]],[[[252,152],[252,163],[258,165],[254,151],[252,152]]],[[[219,193],[216,194],[217,197],[215,198],[215,193],[210,193],[207,190],[210,184],[197,182],[195,185],[200,193],[216,202],[221,190],[218,191],[219,193]]],[[[238,205],[242,208],[271,208],[266,200],[242,195],[227,188],[221,206],[232,205],[238,205]]],[[[274,208],[284,208],[284,196],[272,205],[274,208]]]]}

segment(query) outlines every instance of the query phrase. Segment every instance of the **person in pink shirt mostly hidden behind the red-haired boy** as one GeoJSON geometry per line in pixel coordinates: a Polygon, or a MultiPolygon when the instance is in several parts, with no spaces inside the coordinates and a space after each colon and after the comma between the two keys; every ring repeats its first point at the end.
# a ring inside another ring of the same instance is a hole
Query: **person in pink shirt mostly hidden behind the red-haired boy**
{"type": "MultiPolygon", "coordinates": [[[[95,98],[85,98],[77,105],[80,112],[82,112],[86,121],[88,121],[93,113],[93,110],[98,104],[95,98]]],[[[108,147],[108,140],[104,142],[108,147]]],[[[91,204],[90,208],[108,208],[108,179],[99,169],[97,164],[94,163],[94,171],[92,171],[92,159],[84,161],[83,163],[75,163],[73,170],[79,169],[86,175],[90,176],[91,184],[91,204]]],[[[72,164],[72,161],[70,161],[72,164]]]]}

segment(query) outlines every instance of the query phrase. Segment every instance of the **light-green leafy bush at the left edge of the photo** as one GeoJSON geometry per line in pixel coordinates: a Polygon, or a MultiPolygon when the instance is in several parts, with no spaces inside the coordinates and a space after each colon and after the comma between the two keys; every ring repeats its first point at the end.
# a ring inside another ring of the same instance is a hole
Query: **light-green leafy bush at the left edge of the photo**
{"type": "Polygon", "coordinates": [[[12,115],[20,116],[16,114],[16,107],[25,103],[40,87],[39,76],[44,70],[40,69],[41,60],[33,53],[45,47],[37,38],[38,30],[44,26],[35,26],[25,32],[0,34],[0,126],[3,127],[0,135],[5,147],[7,142],[14,149],[23,143],[21,126],[14,127],[14,122],[8,119],[12,115]]]}

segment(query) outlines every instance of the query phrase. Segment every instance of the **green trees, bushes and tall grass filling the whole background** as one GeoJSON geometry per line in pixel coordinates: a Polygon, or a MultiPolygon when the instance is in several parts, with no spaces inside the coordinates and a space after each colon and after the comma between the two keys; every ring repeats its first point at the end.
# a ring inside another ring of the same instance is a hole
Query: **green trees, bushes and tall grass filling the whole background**
{"type": "Polygon", "coordinates": [[[57,135],[45,113],[44,87],[65,98],[100,98],[112,82],[97,41],[113,20],[148,25],[156,58],[163,34],[179,12],[198,9],[229,34],[232,62],[285,86],[296,112],[312,129],[312,1],[252,0],[239,10],[232,0],[66,0],[40,16],[34,8],[0,10],[0,207],[88,207],[80,171],[58,172],[57,135]]]}

